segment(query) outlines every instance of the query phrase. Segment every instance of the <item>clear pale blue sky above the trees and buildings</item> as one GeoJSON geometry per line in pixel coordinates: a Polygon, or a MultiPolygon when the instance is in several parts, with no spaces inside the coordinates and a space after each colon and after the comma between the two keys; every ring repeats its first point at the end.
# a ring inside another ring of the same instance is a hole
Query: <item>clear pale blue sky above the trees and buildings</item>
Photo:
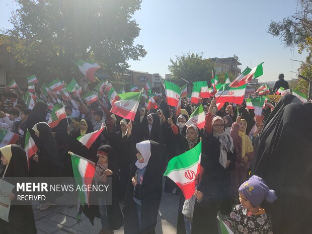
{"type": "MultiPolygon", "coordinates": [[[[169,73],[170,59],[183,53],[203,52],[204,58],[239,56],[242,70],[263,64],[260,82],[275,81],[279,73],[295,78],[306,53],[285,48],[280,38],[267,33],[271,21],[281,21],[296,12],[295,0],[274,1],[173,1],[143,0],[134,19],[141,28],[135,44],[142,44],[147,55],[140,61],[129,60],[130,69],[169,73]]],[[[12,0],[0,1],[0,28],[8,23],[14,8],[12,0]],[[7,6],[8,4],[8,6],[7,6]]]]}

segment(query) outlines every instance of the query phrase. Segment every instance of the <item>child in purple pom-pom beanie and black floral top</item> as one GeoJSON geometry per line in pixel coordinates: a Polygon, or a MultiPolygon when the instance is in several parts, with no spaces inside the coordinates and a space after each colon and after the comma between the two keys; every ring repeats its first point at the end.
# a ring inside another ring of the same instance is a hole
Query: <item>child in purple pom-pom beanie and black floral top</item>
{"type": "Polygon", "coordinates": [[[273,234],[271,216],[260,207],[264,199],[273,202],[277,199],[274,190],[270,190],[258,176],[252,176],[239,188],[240,203],[235,206],[225,224],[235,234],[273,234]]]}

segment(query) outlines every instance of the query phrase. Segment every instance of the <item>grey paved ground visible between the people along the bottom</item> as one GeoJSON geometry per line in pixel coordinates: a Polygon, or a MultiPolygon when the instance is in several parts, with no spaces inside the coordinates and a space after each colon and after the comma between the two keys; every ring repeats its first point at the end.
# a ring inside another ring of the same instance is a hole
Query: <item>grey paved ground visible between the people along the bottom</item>
{"type": "MultiPolygon", "coordinates": [[[[61,199],[68,199],[73,194],[65,193],[61,199]]],[[[75,198],[74,198],[75,199],[75,198]]],[[[58,201],[58,200],[57,200],[58,201]]],[[[56,202],[57,202],[56,201],[56,202]]],[[[159,209],[156,233],[175,234],[177,228],[179,197],[173,194],[163,193],[162,202],[159,209]]],[[[95,219],[92,226],[86,216],[82,216],[80,224],[76,222],[76,206],[53,205],[49,209],[40,211],[33,205],[34,216],[38,234],[98,234],[102,225],[100,219],[95,219]]],[[[124,233],[123,227],[115,233],[124,233]]]]}

